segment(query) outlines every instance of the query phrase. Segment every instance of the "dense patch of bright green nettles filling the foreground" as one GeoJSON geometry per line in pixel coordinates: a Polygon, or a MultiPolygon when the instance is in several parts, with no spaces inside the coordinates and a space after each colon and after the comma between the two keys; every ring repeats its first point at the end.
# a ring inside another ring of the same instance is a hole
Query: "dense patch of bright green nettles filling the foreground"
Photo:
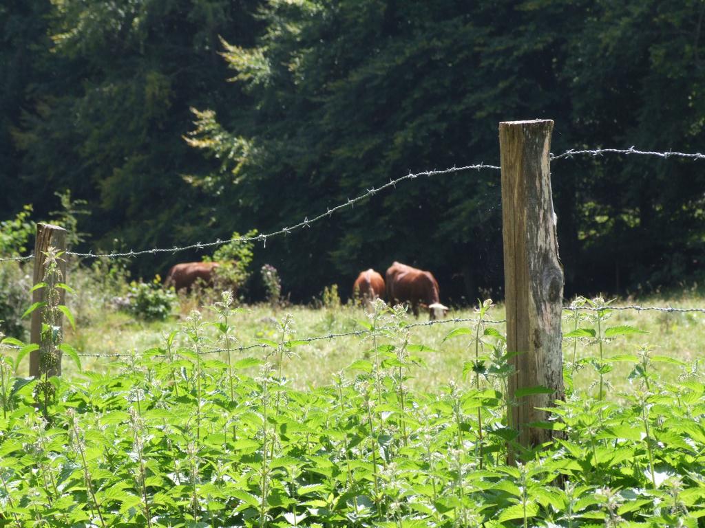
{"type": "MultiPolygon", "coordinates": [[[[564,434],[510,466],[512,370],[491,308],[448,334],[467,339],[462,382],[413,389],[430,349],[403,308],[376,301],[360,359],[298,390],[281,370],[309,360],[291,318],[241,348],[224,292],[213,322],[192,313],[109,374],[49,377],[51,420],[34,398],[44,378],[23,384],[15,372],[13,355],[28,349],[1,339],[0,527],[701,527],[699,364],[603,348],[602,363],[632,365],[618,400],[576,386],[551,409],[564,434]],[[663,382],[659,364],[680,377],[663,382]]],[[[579,348],[614,337],[605,315],[579,348]]]]}

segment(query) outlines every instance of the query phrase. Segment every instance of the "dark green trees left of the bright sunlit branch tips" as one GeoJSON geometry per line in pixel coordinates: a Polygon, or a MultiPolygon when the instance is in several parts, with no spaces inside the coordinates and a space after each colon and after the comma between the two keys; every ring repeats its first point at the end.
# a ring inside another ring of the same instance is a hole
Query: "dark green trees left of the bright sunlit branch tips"
{"type": "MultiPolygon", "coordinates": [[[[249,44],[260,3],[5,3],[0,175],[12,196],[3,199],[31,195],[48,215],[58,208],[54,193],[70,189],[71,199],[89,202],[81,227],[92,249],[115,238],[137,248],[222,237],[217,200],[184,180],[203,162],[183,136],[191,106],[237,106],[219,35],[249,44]]],[[[157,258],[134,264],[152,275],[166,264],[157,258]]]]}

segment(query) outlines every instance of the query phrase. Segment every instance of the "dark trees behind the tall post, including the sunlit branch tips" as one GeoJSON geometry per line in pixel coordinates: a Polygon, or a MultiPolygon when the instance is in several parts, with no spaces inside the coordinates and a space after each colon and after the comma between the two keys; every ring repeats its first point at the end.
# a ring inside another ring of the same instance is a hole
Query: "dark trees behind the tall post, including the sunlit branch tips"
{"type": "MultiPolygon", "coordinates": [[[[269,2],[255,46],[223,44],[250,100],[235,118],[196,113],[192,145],[219,165],[193,181],[231,196],[222,215],[269,230],[409,170],[497,159],[496,123],[522,115],[556,118],[553,151],[699,151],[701,11],[696,0],[269,2]]],[[[618,290],[699,272],[697,164],[634,158],[556,162],[568,290],[580,287],[575,277],[618,290]]],[[[455,295],[474,295],[473,284],[501,285],[499,201],[491,172],[416,180],[307,232],[319,251],[293,239],[271,251],[298,297],[354,277],[360,262],[384,269],[393,259],[434,270],[441,284],[462,274],[469,291],[455,295]]]]}

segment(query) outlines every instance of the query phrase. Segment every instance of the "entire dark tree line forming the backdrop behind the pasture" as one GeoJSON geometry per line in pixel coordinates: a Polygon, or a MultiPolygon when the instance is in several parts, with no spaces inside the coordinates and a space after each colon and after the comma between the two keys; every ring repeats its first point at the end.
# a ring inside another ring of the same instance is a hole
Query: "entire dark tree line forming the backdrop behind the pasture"
{"type": "MultiPolygon", "coordinates": [[[[410,170],[496,162],[501,120],[556,120],[556,153],[702,151],[704,13],[702,0],[11,1],[4,210],[41,215],[71,189],[90,202],[90,246],[168,246],[276,230],[410,170]]],[[[567,293],[703,277],[703,167],[556,162],[567,293]]],[[[496,291],[498,184],[418,179],[255,262],[294,298],[392,260],[434,270],[456,301],[496,291]]]]}

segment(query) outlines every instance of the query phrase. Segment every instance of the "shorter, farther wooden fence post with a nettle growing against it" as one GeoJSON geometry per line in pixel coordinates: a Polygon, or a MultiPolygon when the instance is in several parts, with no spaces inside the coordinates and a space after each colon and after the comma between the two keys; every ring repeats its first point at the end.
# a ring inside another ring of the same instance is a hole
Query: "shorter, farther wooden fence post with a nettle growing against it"
{"type": "MultiPolygon", "coordinates": [[[[47,260],[46,252],[49,247],[54,247],[58,251],[66,251],[66,230],[51,224],[37,224],[37,239],[35,241],[35,275],[32,284],[37,284],[44,280],[44,262],[47,260]]],[[[62,257],[58,261],[61,270],[62,282],[66,282],[66,258],[62,257]]],[[[66,298],[66,291],[59,289],[59,303],[63,304],[66,298]]],[[[32,303],[42,301],[44,288],[36,289],[32,292],[32,303]]],[[[44,310],[39,309],[32,312],[32,330],[30,338],[32,343],[41,345],[42,316],[44,310]]],[[[59,319],[59,325],[63,327],[63,316],[59,319]]],[[[61,376],[61,352],[59,352],[59,362],[56,367],[49,371],[50,376],[61,376]]],[[[30,352],[30,376],[39,377],[39,351],[30,352]]]]}

